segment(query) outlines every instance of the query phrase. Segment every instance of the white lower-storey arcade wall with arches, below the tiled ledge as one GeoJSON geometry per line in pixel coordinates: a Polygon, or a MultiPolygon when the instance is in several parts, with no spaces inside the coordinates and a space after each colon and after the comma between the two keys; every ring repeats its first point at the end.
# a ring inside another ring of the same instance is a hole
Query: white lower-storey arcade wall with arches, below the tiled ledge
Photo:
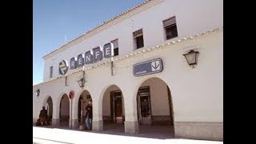
{"type": "MultiPolygon", "coordinates": [[[[68,86],[65,86],[63,77],[33,86],[33,117],[38,118],[39,111],[49,95],[53,98],[53,118],[58,118],[59,102],[63,94],[74,90],[73,102],[77,105],[82,91],[88,90],[93,98],[96,114],[94,120],[101,120],[102,107],[98,106],[98,103],[102,102],[106,89],[111,85],[116,85],[122,90],[126,114],[130,115],[131,110],[136,107],[132,99],[136,98],[139,86],[147,79],[157,77],[170,87],[174,122],[223,122],[223,30],[114,62],[114,76],[111,76],[110,64],[86,70],[84,88],[78,86],[77,81],[81,77],[82,72],[68,76],[68,86]],[[188,66],[186,58],[182,55],[191,49],[199,52],[198,66],[195,69],[188,66]],[[163,71],[134,77],[133,65],[153,58],[162,58],[163,71]],[[39,97],[34,94],[38,88],[41,91],[39,97]]],[[[78,106],[74,106],[74,109],[75,107],[78,106]]],[[[73,114],[74,118],[77,118],[77,115],[73,114]]],[[[132,121],[132,118],[126,117],[126,120],[132,121]]]]}

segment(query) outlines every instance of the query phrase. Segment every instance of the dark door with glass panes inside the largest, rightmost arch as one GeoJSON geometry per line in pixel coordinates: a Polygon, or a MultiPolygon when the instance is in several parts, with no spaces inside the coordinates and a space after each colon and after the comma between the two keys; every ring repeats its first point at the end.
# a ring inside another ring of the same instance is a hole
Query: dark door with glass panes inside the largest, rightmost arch
{"type": "Polygon", "coordinates": [[[138,119],[141,124],[152,124],[150,107],[150,86],[138,90],[138,119]]]}

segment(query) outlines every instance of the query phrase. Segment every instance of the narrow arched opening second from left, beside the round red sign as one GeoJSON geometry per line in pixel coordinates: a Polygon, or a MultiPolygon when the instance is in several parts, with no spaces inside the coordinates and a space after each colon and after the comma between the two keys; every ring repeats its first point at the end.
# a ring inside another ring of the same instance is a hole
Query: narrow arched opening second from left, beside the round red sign
{"type": "Polygon", "coordinates": [[[59,105],[60,126],[69,127],[70,121],[70,99],[67,94],[63,94],[59,105]]]}

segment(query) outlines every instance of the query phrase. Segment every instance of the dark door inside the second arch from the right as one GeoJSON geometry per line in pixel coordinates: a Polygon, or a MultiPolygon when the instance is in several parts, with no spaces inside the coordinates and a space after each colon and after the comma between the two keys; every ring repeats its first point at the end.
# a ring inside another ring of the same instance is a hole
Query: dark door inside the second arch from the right
{"type": "Polygon", "coordinates": [[[122,123],[122,92],[114,91],[111,96],[111,119],[114,123],[122,123]]]}

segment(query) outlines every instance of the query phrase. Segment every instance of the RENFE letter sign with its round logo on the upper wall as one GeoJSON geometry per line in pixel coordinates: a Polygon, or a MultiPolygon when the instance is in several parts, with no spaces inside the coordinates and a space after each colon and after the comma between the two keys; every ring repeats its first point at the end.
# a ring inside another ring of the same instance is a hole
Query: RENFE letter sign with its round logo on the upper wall
{"type": "MultiPolygon", "coordinates": [[[[102,47],[97,46],[92,50],[86,51],[84,54],[79,54],[78,57],[70,58],[70,69],[74,70],[78,67],[84,66],[85,64],[91,64],[94,62],[101,61],[102,58],[111,58],[114,56],[114,45],[112,42],[108,42],[102,47]]],[[[66,60],[62,60],[59,63],[59,74],[66,74],[69,67],[67,66],[66,60]]]]}

